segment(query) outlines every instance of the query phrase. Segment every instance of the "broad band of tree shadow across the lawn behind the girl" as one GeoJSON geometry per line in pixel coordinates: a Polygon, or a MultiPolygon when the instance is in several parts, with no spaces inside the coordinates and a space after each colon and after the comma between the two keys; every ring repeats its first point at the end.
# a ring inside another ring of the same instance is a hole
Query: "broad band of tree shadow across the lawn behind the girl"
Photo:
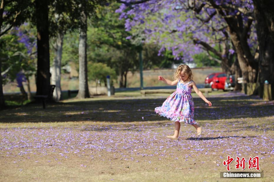
{"type": "MultiPolygon", "coordinates": [[[[273,116],[273,101],[265,102],[259,98],[212,97],[212,107],[208,107],[200,98],[193,98],[195,103],[194,119],[242,119],[273,116]],[[252,100],[250,100],[252,99],[252,100]]],[[[132,99],[124,100],[87,100],[75,102],[48,103],[46,109],[41,104],[28,104],[24,107],[0,111],[1,123],[17,122],[142,122],[164,121],[165,117],[155,114],[165,99],[132,99]]],[[[240,122],[240,121],[236,121],[240,122]]],[[[224,122],[224,124],[228,124],[224,122]]]]}

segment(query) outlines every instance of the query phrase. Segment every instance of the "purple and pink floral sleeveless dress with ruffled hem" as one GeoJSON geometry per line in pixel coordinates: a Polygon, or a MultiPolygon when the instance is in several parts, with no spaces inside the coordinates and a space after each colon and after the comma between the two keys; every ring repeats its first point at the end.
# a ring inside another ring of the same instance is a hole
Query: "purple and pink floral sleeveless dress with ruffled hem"
{"type": "Polygon", "coordinates": [[[169,118],[171,121],[185,122],[187,124],[197,124],[194,117],[194,102],[191,95],[192,87],[186,84],[177,83],[177,89],[173,92],[161,107],[156,107],[155,112],[160,116],[169,118]]]}

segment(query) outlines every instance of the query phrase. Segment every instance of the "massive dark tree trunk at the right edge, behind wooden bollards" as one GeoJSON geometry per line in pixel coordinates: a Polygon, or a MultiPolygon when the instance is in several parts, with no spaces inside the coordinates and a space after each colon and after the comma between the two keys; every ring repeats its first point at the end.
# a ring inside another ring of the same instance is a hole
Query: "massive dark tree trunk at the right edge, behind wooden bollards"
{"type": "MultiPolygon", "coordinates": [[[[263,84],[265,80],[268,80],[270,84],[274,84],[274,40],[271,38],[271,25],[269,27],[268,21],[272,19],[272,26],[274,26],[274,13],[273,9],[272,17],[268,12],[271,6],[266,7],[265,4],[261,4],[260,0],[254,1],[254,14],[256,20],[256,30],[259,41],[259,74],[258,81],[263,84]]],[[[272,2],[273,3],[273,2],[272,2]]],[[[274,5],[272,4],[272,7],[274,5]]],[[[271,24],[271,23],[270,23],[271,24]]],[[[272,27],[273,28],[273,27],[272,27]]],[[[272,35],[273,36],[273,35],[272,35]]]]}

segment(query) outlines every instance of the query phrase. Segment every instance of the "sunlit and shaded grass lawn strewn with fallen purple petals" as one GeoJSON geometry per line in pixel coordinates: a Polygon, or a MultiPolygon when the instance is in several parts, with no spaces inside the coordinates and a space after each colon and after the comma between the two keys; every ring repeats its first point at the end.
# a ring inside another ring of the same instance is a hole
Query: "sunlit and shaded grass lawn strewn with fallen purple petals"
{"type": "Polygon", "coordinates": [[[194,95],[201,136],[154,113],[169,94],[67,99],[0,111],[0,181],[274,181],[274,102],[234,92],[194,95]],[[220,178],[230,155],[260,157],[264,178],[220,178]]]}

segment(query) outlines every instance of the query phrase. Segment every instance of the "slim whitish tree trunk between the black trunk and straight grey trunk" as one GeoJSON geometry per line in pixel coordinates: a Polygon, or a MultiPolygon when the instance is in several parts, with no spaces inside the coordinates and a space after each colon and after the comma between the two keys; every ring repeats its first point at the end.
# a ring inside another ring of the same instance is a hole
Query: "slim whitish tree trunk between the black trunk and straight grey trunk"
{"type": "Polygon", "coordinates": [[[52,69],[52,84],[55,85],[55,90],[53,92],[53,98],[56,101],[62,100],[62,90],[61,90],[61,61],[62,61],[62,48],[63,48],[63,33],[57,34],[57,39],[55,43],[56,56],[53,60],[52,69]]]}

